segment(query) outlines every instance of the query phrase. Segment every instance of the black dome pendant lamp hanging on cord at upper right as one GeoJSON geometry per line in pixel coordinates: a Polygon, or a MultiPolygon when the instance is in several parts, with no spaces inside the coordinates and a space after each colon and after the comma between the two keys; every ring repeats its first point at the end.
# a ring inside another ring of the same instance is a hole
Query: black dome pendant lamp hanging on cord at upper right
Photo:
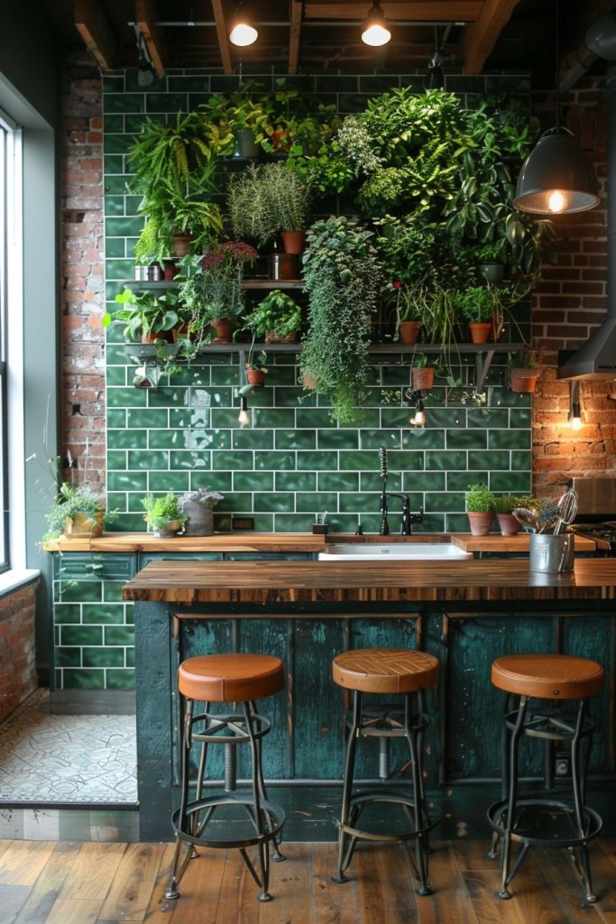
{"type": "Polygon", "coordinates": [[[557,2],[556,126],[541,136],[526,158],[513,199],[513,205],[520,212],[541,215],[586,212],[599,203],[598,182],[593,166],[569,129],[560,125],[559,6],[557,2]]]}

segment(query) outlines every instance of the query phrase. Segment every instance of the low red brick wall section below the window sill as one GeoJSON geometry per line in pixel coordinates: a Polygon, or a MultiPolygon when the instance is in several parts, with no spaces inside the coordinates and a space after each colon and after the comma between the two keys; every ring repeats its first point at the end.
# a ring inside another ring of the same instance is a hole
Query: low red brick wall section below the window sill
{"type": "Polygon", "coordinates": [[[37,687],[36,583],[0,599],[0,722],[37,687]]]}

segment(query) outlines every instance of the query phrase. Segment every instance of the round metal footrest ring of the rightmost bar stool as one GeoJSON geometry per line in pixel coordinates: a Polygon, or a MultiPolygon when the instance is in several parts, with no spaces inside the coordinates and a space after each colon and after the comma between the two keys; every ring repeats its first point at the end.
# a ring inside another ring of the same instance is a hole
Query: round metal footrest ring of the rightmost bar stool
{"type": "Polygon", "coordinates": [[[580,834],[575,821],[574,802],[537,796],[516,800],[515,821],[513,822],[513,827],[508,832],[505,824],[502,823],[506,811],[506,799],[499,799],[498,802],[494,802],[488,809],[490,827],[501,836],[509,833],[513,841],[518,841],[526,845],[542,845],[547,847],[575,847],[585,845],[588,841],[597,837],[603,824],[600,815],[598,815],[593,808],[583,806],[582,818],[584,821],[585,833],[580,834]],[[545,818],[541,824],[542,834],[532,833],[533,828],[527,821],[524,829],[519,827],[525,814],[528,815],[528,813],[541,811],[549,813],[550,816],[557,815],[565,821],[568,821],[574,830],[572,830],[570,834],[558,833],[555,827],[557,820],[553,818],[550,820],[552,823],[551,830],[553,832],[551,836],[550,821],[546,821],[545,818]]]}

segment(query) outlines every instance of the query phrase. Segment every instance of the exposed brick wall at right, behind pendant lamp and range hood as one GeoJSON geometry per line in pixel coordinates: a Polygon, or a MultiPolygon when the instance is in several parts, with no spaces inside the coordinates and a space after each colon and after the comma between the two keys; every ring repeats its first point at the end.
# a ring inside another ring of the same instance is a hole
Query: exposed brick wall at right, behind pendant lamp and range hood
{"type": "MultiPolygon", "coordinates": [[[[537,383],[533,420],[535,492],[572,477],[616,476],[616,383],[581,383],[583,427],[569,426],[569,383],[556,378],[559,349],[574,349],[605,318],[607,309],[606,129],[604,78],[587,78],[562,100],[567,126],[591,157],[601,185],[601,206],[555,221],[555,265],[543,268],[533,301],[533,345],[544,370],[537,383]]],[[[554,100],[535,97],[548,128],[554,100]]],[[[614,268],[616,273],[616,268],[614,268]]]]}

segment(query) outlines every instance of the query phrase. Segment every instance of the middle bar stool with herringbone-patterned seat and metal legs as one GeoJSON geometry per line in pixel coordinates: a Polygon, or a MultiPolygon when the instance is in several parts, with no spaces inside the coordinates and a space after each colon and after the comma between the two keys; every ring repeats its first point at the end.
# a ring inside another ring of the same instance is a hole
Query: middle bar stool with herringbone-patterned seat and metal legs
{"type": "Polygon", "coordinates": [[[419,880],[419,894],[429,895],[428,846],[429,830],[438,821],[430,821],[426,809],[422,772],[423,735],[429,720],[424,711],[423,692],[434,687],[439,678],[439,662],[431,654],[406,649],[357,649],[336,655],[332,662],[334,683],[353,690],[353,708],[345,714],[347,728],[346,760],[344,764],[343,804],[338,822],[338,869],[332,880],[345,882],[347,869],[358,839],[370,841],[400,841],[419,880]],[[404,694],[401,706],[378,701],[364,705],[364,693],[404,694]],[[352,796],[356,743],[359,737],[377,737],[380,742],[380,780],[389,776],[389,739],[404,737],[410,753],[411,786],[390,788],[379,786],[360,790],[352,796]],[[381,833],[359,828],[363,808],[368,803],[390,803],[400,806],[405,816],[405,830],[381,833]],[[411,857],[407,842],[416,841],[416,859],[411,857]]]}

